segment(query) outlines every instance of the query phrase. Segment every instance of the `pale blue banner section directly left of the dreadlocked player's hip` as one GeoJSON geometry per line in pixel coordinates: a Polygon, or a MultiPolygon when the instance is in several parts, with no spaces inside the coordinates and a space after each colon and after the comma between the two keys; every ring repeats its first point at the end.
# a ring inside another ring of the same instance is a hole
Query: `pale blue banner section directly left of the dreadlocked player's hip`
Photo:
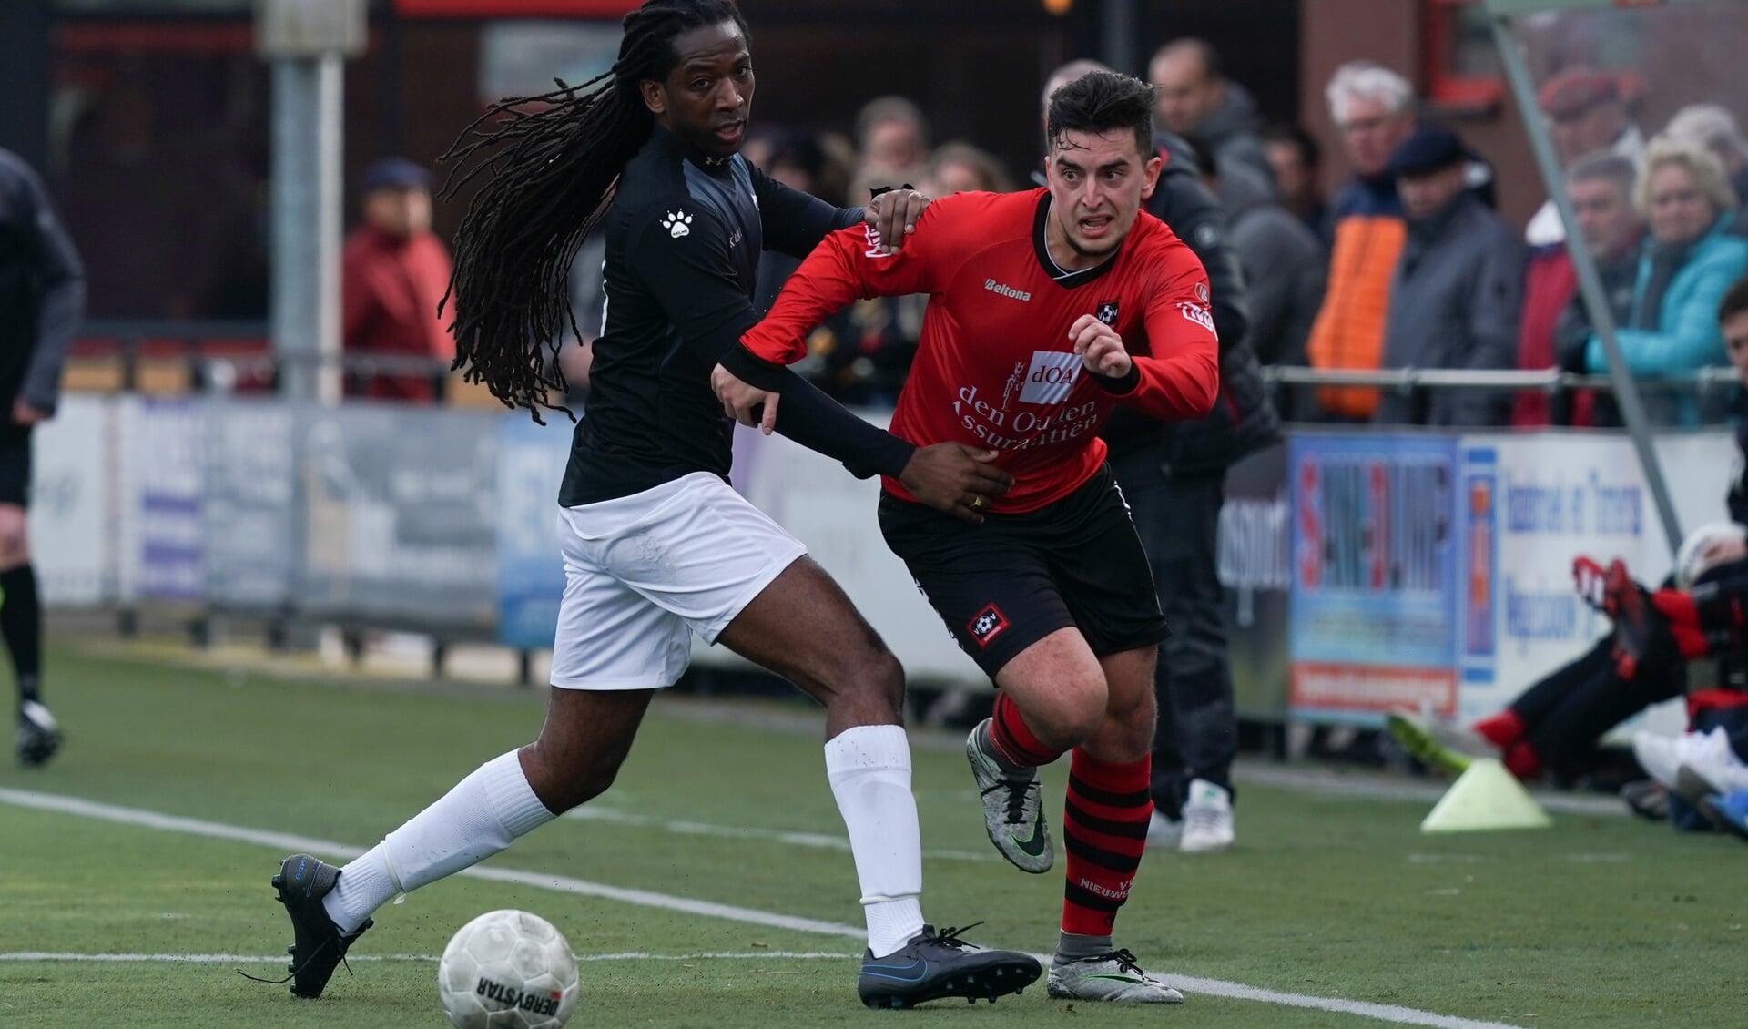
{"type": "Polygon", "coordinates": [[[558,486],[570,456],[568,421],[498,421],[498,641],[549,648],[565,596],[558,486]]]}

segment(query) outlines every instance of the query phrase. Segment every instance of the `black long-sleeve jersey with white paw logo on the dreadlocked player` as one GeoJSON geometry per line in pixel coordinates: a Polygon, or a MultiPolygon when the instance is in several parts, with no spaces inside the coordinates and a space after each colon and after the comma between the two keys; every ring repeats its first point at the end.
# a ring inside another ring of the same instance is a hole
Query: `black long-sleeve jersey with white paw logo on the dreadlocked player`
{"type": "MultiPolygon", "coordinates": [[[[656,128],[619,176],[607,217],[607,316],[594,341],[589,402],[577,423],[559,503],[629,496],[692,472],[727,479],[734,423],[710,370],[752,328],[762,250],[806,257],[862,220],[771,180],[739,154],[706,159],[656,128]]],[[[801,379],[783,383],[780,432],[858,473],[897,473],[911,447],[874,430],[801,379]]],[[[764,383],[760,383],[764,384],[764,383]]]]}

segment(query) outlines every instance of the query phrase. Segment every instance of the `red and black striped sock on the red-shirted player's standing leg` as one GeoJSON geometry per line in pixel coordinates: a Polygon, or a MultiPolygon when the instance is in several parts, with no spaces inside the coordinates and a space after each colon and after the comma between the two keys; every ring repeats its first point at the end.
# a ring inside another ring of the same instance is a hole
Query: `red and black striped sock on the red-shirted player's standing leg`
{"type": "Polygon", "coordinates": [[[1068,849],[1065,933],[1108,936],[1117,908],[1129,900],[1129,884],[1147,849],[1147,821],[1154,816],[1154,800],[1147,793],[1152,770],[1152,755],[1110,765],[1075,748],[1068,765],[1068,802],[1063,805],[1063,846],[1068,849]]]}

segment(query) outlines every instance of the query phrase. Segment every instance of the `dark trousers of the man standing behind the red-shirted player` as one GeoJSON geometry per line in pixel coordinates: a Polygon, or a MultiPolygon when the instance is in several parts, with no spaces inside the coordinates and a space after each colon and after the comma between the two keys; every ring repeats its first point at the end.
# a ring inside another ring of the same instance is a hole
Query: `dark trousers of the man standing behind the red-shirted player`
{"type": "Polygon", "coordinates": [[[1218,575],[1225,473],[1171,475],[1145,449],[1112,461],[1141,535],[1171,638],[1159,646],[1154,694],[1154,805],[1183,811],[1190,779],[1232,788],[1238,715],[1225,659],[1225,589],[1218,575]]]}

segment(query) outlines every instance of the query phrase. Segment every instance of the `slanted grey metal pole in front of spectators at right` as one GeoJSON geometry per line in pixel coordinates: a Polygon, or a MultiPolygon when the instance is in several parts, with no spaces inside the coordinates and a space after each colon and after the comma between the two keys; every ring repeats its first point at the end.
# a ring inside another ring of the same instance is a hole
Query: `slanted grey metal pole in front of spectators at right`
{"type": "Polygon", "coordinates": [[[1603,292],[1603,280],[1596,273],[1591,250],[1578,232],[1578,217],[1571,210],[1571,197],[1566,194],[1566,180],[1559,169],[1559,157],[1554,154],[1554,142],[1542,124],[1540,108],[1535,101],[1535,84],[1530,82],[1530,68],[1524,65],[1523,51],[1510,33],[1510,19],[1505,14],[1489,12],[1488,24],[1493,28],[1493,42],[1500,51],[1500,63],[1505,66],[1505,79],[1510,82],[1512,96],[1517,98],[1517,110],[1530,133],[1530,148],[1535,152],[1536,168],[1542,169],[1542,182],[1547,196],[1559,210],[1559,220],[1566,227],[1566,253],[1578,273],[1578,294],[1584,297],[1584,309],[1596,327],[1596,335],[1603,341],[1603,355],[1608,358],[1608,377],[1615,384],[1615,404],[1620,407],[1620,419],[1626,421],[1633,435],[1633,451],[1645,470],[1645,486],[1657,503],[1657,515],[1662,521],[1662,535],[1669,543],[1669,554],[1682,549],[1682,524],[1675,515],[1675,503],[1669,500],[1669,486],[1662,479],[1662,465],[1657,461],[1657,449],[1652,444],[1650,425],[1645,421],[1645,405],[1640,404],[1638,386],[1633,372],[1620,356],[1620,342],[1615,339],[1615,316],[1608,309],[1608,295],[1603,292]]]}

